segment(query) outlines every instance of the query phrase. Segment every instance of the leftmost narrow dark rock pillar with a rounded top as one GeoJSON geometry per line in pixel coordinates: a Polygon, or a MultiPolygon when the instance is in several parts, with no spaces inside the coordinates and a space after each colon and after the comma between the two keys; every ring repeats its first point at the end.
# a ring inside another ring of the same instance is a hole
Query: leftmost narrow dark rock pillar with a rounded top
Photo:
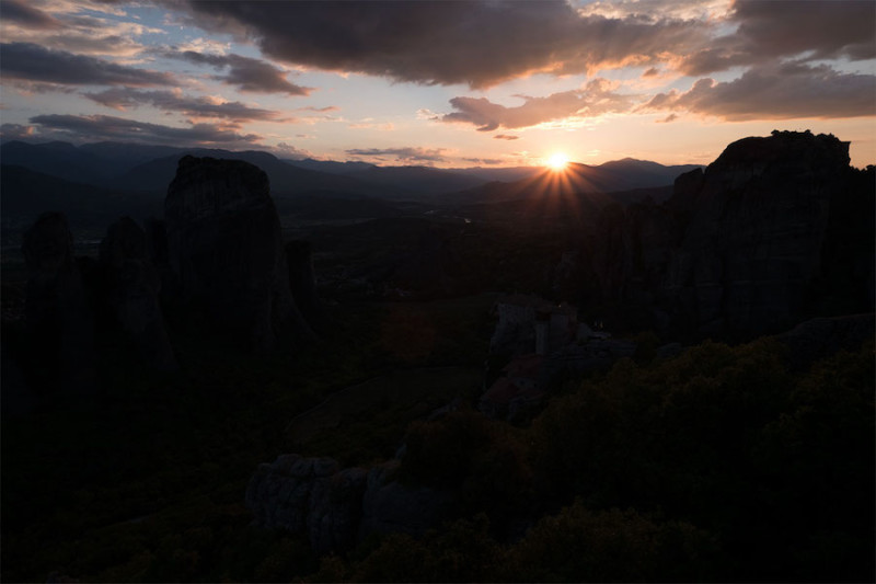
{"type": "Polygon", "coordinates": [[[24,234],[25,316],[34,347],[45,355],[50,389],[88,392],[94,383],[94,322],[73,240],[60,213],[43,214],[24,234]]]}

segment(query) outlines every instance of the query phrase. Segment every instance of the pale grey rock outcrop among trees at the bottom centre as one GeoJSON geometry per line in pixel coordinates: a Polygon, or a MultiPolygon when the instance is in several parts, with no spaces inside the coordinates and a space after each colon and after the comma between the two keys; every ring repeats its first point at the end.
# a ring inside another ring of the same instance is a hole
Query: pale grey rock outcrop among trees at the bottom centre
{"type": "Polygon", "coordinates": [[[323,553],[351,549],[371,533],[422,534],[440,520],[448,497],[392,481],[397,465],[342,470],[332,458],[281,455],[258,467],[246,506],[257,525],[307,535],[323,553]]]}

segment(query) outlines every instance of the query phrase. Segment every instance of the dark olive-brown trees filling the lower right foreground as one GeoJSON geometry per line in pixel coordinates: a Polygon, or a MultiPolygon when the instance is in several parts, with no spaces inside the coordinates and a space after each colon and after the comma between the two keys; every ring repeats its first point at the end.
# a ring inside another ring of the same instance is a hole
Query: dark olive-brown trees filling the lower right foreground
{"type": "Polygon", "coordinates": [[[626,359],[527,428],[416,423],[401,478],[453,490],[456,518],[310,580],[873,581],[873,343],[804,373],[785,353],[626,359]]]}

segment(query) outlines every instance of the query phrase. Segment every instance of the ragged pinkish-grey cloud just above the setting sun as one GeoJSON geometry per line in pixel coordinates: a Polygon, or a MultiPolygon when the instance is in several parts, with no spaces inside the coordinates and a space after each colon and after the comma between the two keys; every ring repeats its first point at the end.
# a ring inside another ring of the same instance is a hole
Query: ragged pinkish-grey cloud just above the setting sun
{"type": "Polygon", "coordinates": [[[446,114],[441,121],[474,124],[480,131],[492,131],[499,127],[525,128],[568,117],[626,112],[633,105],[632,96],[613,92],[611,83],[601,78],[593,79],[583,90],[522,98],[523,104],[517,107],[506,107],[486,98],[453,98],[450,104],[458,112],[446,114]]]}

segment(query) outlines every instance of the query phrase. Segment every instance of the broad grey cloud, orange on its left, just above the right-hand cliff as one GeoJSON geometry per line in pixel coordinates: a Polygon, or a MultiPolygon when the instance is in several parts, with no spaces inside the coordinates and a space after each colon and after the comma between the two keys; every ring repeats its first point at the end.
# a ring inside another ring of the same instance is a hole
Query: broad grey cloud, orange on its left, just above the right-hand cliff
{"type": "Polygon", "coordinates": [[[727,82],[700,79],[689,91],[658,93],[643,111],[688,111],[728,121],[872,116],[876,76],[821,65],[781,64],[727,82]]]}

